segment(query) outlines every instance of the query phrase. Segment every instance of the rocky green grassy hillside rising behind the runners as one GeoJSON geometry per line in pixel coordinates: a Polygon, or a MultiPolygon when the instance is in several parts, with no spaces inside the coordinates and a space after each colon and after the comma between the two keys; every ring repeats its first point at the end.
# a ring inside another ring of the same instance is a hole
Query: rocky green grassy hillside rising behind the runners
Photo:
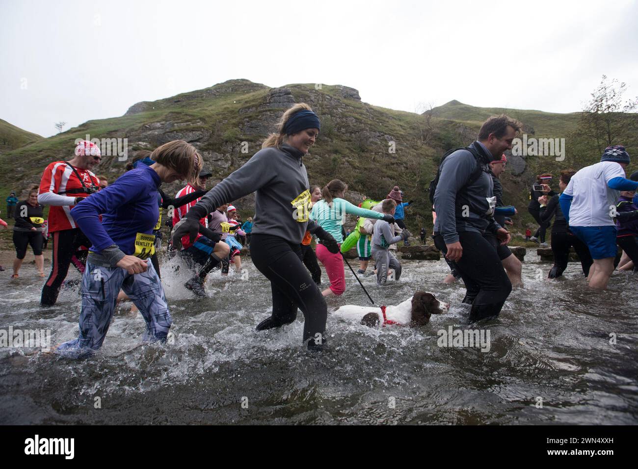
{"type": "MultiPolygon", "coordinates": [[[[4,194],[10,187],[21,190],[39,182],[50,161],[72,158],[75,140],[87,135],[127,139],[126,160],[124,156],[106,156],[95,168],[97,174],[107,175],[110,181],[124,172],[135,151],[152,150],[176,139],[195,145],[204,156],[205,167],[219,181],[260,149],[283,111],[295,102],[308,103],[322,120],[320,137],[312,153],[304,157],[311,184],[342,179],[348,183],[350,194],[346,197],[352,202],[359,202],[363,195],[383,198],[398,184],[408,200],[415,200],[406,212],[408,227],[413,232],[421,226],[431,229],[431,207],[424,189],[436,172],[440,156],[449,148],[474,140],[487,117],[505,112],[521,120],[524,131],[534,137],[565,138],[574,131],[579,119],[579,113],[478,108],[458,101],[434,108],[428,118],[426,114],[364,103],[355,89],[340,85],[291,84],[271,88],[249,80],[228,80],[163,100],[143,101],[131,106],[121,117],[87,121],[3,153],[0,190],[4,194]]],[[[105,153],[105,148],[102,151],[105,153]]],[[[520,161],[519,174],[506,173],[501,178],[505,202],[519,208],[517,229],[531,221],[525,207],[534,175],[573,165],[569,148],[567,152],[568,157],[562,162],[528,157],[520,161]]],[[[593,163],[600,156],[592,152],[582,158],[593,163]]],[[[179,188],[179,184],[173,184],[165,190],[175,193],[179,188]]],[[[252,195],[234,202],[244,218],[253,214],[252,195]]]]}

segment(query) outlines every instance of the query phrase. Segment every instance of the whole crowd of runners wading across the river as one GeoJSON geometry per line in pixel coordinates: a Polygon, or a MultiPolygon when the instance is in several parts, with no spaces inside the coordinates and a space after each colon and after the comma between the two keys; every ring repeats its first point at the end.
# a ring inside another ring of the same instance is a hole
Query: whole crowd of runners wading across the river
{"type": "MultiPolygon", "coordinates": [[[[507,247],[507,225],[518,212],[504,204],[499,181],[507,165],[505,151],[512,149],[521,128],[507,115],[490,117],[475,142],[443,156],[430,184],[434,245],[451,269],[445,281],[464,283],[471,322],[498,316],[512,288],[522,285],[521,262],[507,247]]],[[[71,264],[82,274],[78,338],[57,352],[68,357],[93,354],[104,341],[117,302],[126,297],[144,316],[146,338],[167,338],[172,319],[160,277],[158,250],[163,245],[191,269],[184,287],[198,297],[207,296],[205,283],[213,269],[225,276],[232,265],[241,272],[242,249],[249,246],[252,263],[269,279],[272,292],[272,313],[256,329],[290,324],[300,309],[302,341],[310,349],[323,348],[325,297],[342,295],[346,288],[342,252],[356,245],[359,275],[366,274],[373,260],[369,274],[376,273],[378,285],[398,281],[402,266],[393,251],[397,243],[409,243],[404,216],[412,200],[405,202],[403,191],[394,186],[383,200],[365,200],[357,207],[345,198],[346,182],[333,179],[323,187],[310,186],[303,157],[320,130],[308,105],[293,105],[262,149],[211,189],[207,182],[212,173],[202,156],[181,140],[138,152],[127,171],[110,183],[93,172],[102,158],[100,148],[82,141],[71,160],[45,168],[40,186],[28,188],[24,201],[11,193],[8,215],[15,218],[17,253],[13,278],[19,278],[29,246],[45,277],[42,249],[49,237],[52,269],[41,305],[56,304],[71,264]],[[161,184],[178,180],[186,185],[168,197],[161,184]],[[255,217],[244,222],[232,203],[251,193],[255,217]],[[43,205],[49,205],[47,220],[43,205]],[[343,230],[346,214],[359,217],[349,235],[343,230]],[[162,238],[163,223],[172,225],[170,239],[162,238]],[[320,264],[328,277],[323,284],[320,264]]],[[[528,237],[547,246],[551,226],[554,265],[549,278],[565,271],[572,246],[591,288],[607,288],[617,246],[623,250],[618,268],[638,270],[638,172],[627,178],[629,163],[625,148],[614,145],[599,163],[561,172],[560,192],[552,190],[551,174],[538,176],[528,211],[540,226],[528,237]]],[[[6,228],[1,220],[0,225],[6,228]]],[[[424,229],[420,237],[425,242],[424,229]]]]}

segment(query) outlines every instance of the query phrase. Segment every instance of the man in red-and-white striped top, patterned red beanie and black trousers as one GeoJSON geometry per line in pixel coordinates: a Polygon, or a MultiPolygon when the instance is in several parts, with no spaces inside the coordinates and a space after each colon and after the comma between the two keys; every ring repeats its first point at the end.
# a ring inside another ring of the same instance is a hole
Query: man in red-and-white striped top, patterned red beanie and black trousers
{"type": "Polygon", "coordinates": [[[78,249],[91,247],[91,241],[77,227],[70,212],[82,198],[98,191],[100,181],[91,169],[100,160],[100,147],[83,140],[75,147],[72,160],[54,161],[42,174],[38,203],[51,206],[48,212],[48,232],[53,238],[52,269],[42,288],[42,306],[56,304],[71,258],[78,249]]]}

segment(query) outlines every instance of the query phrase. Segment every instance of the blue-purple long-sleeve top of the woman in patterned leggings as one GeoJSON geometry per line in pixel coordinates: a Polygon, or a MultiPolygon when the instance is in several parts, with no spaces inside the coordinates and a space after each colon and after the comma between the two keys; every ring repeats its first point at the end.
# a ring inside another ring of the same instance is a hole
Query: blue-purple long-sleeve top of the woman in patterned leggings
{"type": "Polygon", "coordinates": [[[91,251],[115,244],[126,255],[135,253],[137,235],[152,234],[158,221],[159,184],[159,175],[140,165],[75,205],[71,216],[93,243],[91,251]]]}

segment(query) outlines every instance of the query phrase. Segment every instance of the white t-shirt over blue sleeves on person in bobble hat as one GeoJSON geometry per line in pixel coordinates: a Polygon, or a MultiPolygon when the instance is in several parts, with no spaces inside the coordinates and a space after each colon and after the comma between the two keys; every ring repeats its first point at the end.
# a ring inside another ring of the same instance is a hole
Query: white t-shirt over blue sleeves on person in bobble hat
{"type": "Polygon", "coordinates": [[[607,186],[614,177],[626,177],[623,167],[615,161],[601,161],[582,168],[572,176],[564,192],[574,197],[569,210],[570,226],[614,225],[610,216],[611,205],[616,205],[620,192],[607,186]]]}

